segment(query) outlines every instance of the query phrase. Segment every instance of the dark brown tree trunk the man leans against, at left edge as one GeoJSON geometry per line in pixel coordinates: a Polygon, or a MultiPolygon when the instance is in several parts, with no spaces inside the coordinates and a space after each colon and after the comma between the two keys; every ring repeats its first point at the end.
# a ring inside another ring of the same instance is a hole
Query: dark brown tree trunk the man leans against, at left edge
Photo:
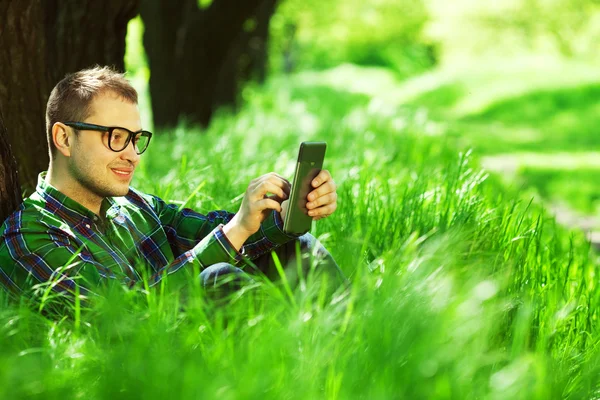
{"type": "Polygon", "coordinates": [[[94,64],[124,69],[127,22],[138,2],[0,1],[0,108],[26,187],[33,187],[48,166],[45,108],[50,91],[66,73],[94,64]]]}

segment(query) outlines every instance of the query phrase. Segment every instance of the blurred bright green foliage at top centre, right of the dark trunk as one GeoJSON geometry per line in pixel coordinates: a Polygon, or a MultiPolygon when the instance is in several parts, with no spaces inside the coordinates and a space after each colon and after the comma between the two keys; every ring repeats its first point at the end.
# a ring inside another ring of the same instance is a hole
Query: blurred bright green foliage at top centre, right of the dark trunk
{"type": "Polygon", "coordinates": [[[427,21],[420,0],[286,0],[271,20],[271,65],[279,72],[350,62],[408,76],[435,63],[422,37],[427,21]]]}

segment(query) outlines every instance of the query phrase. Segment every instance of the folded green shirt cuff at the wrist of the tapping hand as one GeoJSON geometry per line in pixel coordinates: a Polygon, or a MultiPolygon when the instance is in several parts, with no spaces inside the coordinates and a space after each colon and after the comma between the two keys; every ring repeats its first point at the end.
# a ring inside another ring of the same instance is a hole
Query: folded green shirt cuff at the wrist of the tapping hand
{"type": "Polygon", "coordinates": [[[243,258],[242,254],[233,247],[227,236],[225,236],[223,224],[213,229],[194,247],[193,251],[203,269],[220,262],[235,265],[243,258]]]}

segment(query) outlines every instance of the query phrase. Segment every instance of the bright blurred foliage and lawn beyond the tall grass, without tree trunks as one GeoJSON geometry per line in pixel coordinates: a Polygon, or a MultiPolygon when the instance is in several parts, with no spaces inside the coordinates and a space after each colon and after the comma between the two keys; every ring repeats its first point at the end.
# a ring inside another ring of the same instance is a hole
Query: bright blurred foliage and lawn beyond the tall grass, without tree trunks
{"type": "MultiPolygon", "coordinates": [[[[145,123],[160,130],[174,120],[161,111],[153,121],[152,105],[165,109],[153,94],[173,96],[152,86],[144,16],[129,23],[125,61],[144,94],[145,123]]],[[[339,98],[340,116],[352,113],[349,95],[386,116],[416,112],[425,134],[472,148],[487,170],[597,241],[598,37],[596,0],[263,1],[233,40],[210,112],[178,106],[176,118],[207,126],[218,110],[264,101],[257,86],[286,88],[290,104],[314,110],[339,98]]],[[[205,97],[196,93],[192,101],[205,97]]],[[[301,131],[311,121],[296,123],[301,131]]]]}

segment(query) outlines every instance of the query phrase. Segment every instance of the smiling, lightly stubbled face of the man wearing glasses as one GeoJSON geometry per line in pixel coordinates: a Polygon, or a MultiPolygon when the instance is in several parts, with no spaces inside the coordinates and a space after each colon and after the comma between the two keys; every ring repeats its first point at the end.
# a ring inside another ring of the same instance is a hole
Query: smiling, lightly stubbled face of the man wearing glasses
{"type": "MultiPolygon", "coordinates": [[[[131,131],[141,129],[137,105],[113,92],[96,96],[91,110],[92,114],[79,122],[119,126],[131,131]]],[[[129,143],[125,150],[116,153],[108,148],[108,132],[81,130],[72,138],[68,170],[80,189],[87,192],[82,194],[102,198],[126,195],[140,160],[133,144],[129,143]]]]}

